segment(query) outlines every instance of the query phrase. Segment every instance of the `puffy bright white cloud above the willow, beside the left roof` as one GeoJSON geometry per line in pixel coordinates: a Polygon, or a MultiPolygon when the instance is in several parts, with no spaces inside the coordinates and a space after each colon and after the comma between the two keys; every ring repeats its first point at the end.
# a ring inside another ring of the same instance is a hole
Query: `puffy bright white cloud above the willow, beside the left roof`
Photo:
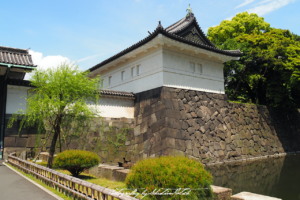
{"type": "MultiPolygon", "coordinates": [[[[57,67],[61,63],[70,63],[70,59],[67,57],[63,57],[61,55],[57,56],[46,56],[43,57],[43,54],[40,52],[35,52],[32,50],[29,50],[29,54],[31,54],[32,61],[35,65],[37,65],[38,68],[42,69],[48,69],[52,67],[57,67]]],[[[25,80],[28,80],[30,78],[30,73],[26,73],[25,80]]]]}

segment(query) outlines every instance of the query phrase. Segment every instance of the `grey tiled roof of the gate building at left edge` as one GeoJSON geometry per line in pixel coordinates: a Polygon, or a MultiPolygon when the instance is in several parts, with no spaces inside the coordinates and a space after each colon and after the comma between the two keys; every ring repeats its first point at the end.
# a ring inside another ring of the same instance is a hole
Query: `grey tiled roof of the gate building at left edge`
{"type": "Polygon", "coordinates": [[[0,63],[36,67],[26,49],[0,46],[0,63]]]}

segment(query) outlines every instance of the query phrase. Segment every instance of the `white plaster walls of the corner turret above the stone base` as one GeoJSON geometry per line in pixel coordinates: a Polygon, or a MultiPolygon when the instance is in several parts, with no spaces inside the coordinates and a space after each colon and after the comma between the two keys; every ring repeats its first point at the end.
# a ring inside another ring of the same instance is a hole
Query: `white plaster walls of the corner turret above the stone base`
{"type": "Polygon", "coordinates": [[[171,47],[159,47],[136,59],[101,73],[105,89],[139,93],[161,86],[224,94],[223,64],[204,55],[189,54],[171,47]],[[193,72],[190,62],[202,65],[193,72]],[[140,65],[141,74],[131,76],[132,67],[140,65]],[[122,81],[121,73],[125,71],[122,81]],[[111,85],[109,85],[109,77],[111,85]]]}

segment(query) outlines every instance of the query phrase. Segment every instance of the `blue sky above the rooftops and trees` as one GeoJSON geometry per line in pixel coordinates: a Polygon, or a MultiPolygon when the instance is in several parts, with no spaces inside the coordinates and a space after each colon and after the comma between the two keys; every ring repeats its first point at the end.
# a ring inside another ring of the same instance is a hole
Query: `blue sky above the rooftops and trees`
{"type": "Polygon", "coordinates": [[[300,0],[10,0],[1,3],[1,46],[31,48],[41,67],[63,60],[81,69],[122,51],[186,14],[188,4],[204,32],[243,11],[272,27],[300,35],[300,0]]]}

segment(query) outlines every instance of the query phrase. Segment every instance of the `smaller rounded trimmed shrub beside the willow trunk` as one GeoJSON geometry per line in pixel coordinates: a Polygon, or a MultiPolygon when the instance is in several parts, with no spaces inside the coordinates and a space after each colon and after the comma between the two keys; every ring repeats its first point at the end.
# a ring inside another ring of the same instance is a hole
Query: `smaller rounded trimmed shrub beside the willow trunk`
{"type": "Polygon", "coordinates": [[[54,158],[53,166],[68,170],[73,176],[78,175],[86,169],[98,165],[100,162],[97,154],[90,151],[67,150],[59,153],[54,158]]]}

